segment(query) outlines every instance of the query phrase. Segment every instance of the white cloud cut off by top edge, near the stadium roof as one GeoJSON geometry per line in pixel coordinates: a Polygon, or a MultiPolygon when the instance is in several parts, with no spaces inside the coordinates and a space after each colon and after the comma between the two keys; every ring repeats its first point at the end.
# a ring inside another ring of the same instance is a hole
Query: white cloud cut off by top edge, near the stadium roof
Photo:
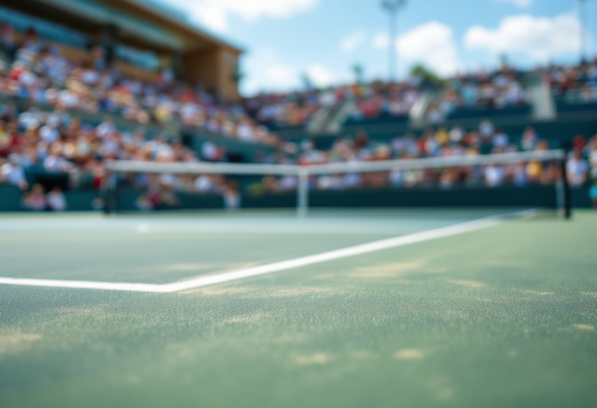
{"type": "Polygon", "coordinates": [[[319,0],[170,0],[168,4],[187,11],[191,20],[223,32],[228,28],[230,14],[251,21],[260,17],[286,18],[312,10],[318,2],[319,0]]]}

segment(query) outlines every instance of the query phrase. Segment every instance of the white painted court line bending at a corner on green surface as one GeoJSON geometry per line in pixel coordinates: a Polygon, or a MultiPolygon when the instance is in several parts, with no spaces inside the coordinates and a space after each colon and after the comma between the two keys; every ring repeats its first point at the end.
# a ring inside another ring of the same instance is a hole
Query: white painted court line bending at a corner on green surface
{"type": "MultiPolygon", "coordinates": [[[[530,217],[535,211],[522,211],[512,214],[510,217],[530,217]]],[[[507,220],[508,217],[497,216],[481,218],[481,220],[463,222],[451,225],[450,227],[436,228],[434,230],[408,234],[400,237],[383,239],[363,245],[350,246],[349,248],[337,249],[317,255],[302,256],[301,258],[290,259],[289,261],[274,262],[273,264],[260,265],[258,267],[242,269],[233,272],[221,273],[199,277],[197,279],[183,282],[166,283],[153,285],[146,283],[116,283],[116,282],[93,282],[82,280],[54,280],[54,279],[17,279],[0,277],[0,284],[21,285],[21,286],[46,286],[50,288],[76,288],[76,289],[103,289],[103,290],[125,290],[129,292],[152,292],[172,293],[180,290],[201,288],[202,286],[216,285],[217,283],[230,282],[231,280],[244,279],[251,276],[263,275],[298,268],[305,265],[318,264],[333,259],[347,258],[348,256],[367,254],[368,252],[380,251],[381,249],[395,248],[397,246],[409,245],[416,242],[424,242],[442,237],[449,237],[463,234],[470,231],[482,230],[493,227],[507,220]]]]}

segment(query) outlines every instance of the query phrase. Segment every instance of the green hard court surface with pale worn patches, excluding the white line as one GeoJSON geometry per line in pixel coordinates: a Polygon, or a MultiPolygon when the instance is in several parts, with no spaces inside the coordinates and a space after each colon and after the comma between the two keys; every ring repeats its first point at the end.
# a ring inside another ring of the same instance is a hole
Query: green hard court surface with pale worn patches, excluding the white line
{"type": "MultiPolygon", "coordinates": [[[[0,277],[165,285],[496,214],[4,215],[0,277]]],[[[0,284],[2,408],[594,406],[593,211],[173,293],[0,284]]]]}

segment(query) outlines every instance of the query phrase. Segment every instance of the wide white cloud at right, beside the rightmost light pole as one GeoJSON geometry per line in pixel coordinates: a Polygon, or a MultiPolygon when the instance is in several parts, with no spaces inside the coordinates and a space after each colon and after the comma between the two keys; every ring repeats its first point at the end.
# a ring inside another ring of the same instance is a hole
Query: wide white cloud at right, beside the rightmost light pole
{"type": "Polygon", "coordinates": [[[553,18],[527,14],[501,20],[497,29],[473,26],[464,35],[469,50],[493,54],[522,54],[531,62],[545,63],[553,57],[580,50],[580,23],[572,14],[553,18]]]}

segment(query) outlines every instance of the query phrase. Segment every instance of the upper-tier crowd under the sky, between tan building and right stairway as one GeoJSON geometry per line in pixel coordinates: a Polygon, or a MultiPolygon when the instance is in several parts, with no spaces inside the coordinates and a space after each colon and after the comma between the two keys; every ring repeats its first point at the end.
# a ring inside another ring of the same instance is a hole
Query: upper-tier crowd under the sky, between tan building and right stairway
{"type": "Polygon", "coordinates": [[[334,107],[344,100],[353,102],[349,120],[359,122],[380,116],[408,116],[427,89],[439,94],[430,104],[430,123],[439,123],[458,109],[500,109],[525,104],[521,73],[504,66],[494,72],[473,72],[441,80],[413,73],[396,83],[373,81],[328,89],[289,94],[260,94],[245,101],[252,116],[267,125],[302,126],[321,107],[334,107]]]}

